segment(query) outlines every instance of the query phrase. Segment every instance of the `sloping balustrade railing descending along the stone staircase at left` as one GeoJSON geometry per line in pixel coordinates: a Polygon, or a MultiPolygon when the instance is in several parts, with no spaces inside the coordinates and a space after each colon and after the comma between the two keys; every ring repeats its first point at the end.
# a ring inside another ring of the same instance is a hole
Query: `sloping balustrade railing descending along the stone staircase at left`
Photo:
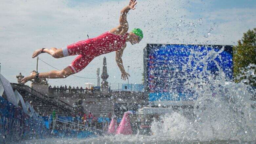
{"type": "Polygon", "coordinates": [[[60,109],[63,109],[64,111],[69,111],[69,112],[74,112],[74,108],[72,106],[70,106],[69,104],[55,98],[52,96],[46,96],[42,93],[39,93],[37,91],[35,91],[34,89],[32,89],[31,87],[27,86],[27,85],[21,85],[21,84],[16,84],[16,83],[11,83],[11,87],[15,88],[15,89],[21,89],[24,91],[27,91],[33,95],[35,95],[36,97],[43,99],[47,102],[50,103],[54,103],[57,107],[59,107],[60,109]]]}

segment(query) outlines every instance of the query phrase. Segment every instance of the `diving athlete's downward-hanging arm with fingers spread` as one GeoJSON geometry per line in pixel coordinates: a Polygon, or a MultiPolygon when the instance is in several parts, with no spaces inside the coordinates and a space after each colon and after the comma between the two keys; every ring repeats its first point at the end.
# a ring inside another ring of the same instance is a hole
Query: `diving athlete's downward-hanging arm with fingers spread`
{"type": "Polygon", "coordinates": [[[116,51],[116,62],[117,62],[117,66],[119,67],[119,69],[122,73],[121,79],[126,80],[126,78],[128,79],[128,76],[130,76],[130,74],[125,72],[124,67],[123,67],[123,61],[122,61],[123,50],[124,50],[124,48],[116,51]]]}

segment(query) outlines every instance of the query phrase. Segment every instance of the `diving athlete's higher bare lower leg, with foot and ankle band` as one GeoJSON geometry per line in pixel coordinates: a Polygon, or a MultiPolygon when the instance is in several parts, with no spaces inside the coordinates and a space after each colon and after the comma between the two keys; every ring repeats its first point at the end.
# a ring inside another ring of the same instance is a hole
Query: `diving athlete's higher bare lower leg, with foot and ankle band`
{"type": "MultiPolygon", "coordinates": [[[[54,58],[64,57],[62,49],[50,48],[50,49],[44,49],[43,51],[48,54],[51,54],[54,58]]],[[[38,56],[41,53],[42,53],[41,49],[35,50],[32,54],[32,58],[38,56]]]]}

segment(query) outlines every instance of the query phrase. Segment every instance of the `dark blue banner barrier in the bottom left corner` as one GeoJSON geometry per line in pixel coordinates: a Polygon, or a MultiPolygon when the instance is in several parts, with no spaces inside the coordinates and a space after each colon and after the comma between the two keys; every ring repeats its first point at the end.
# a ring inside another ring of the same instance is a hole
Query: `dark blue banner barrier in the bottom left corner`
{"type": "Polygon", "coordinates": [[[0,96],[0,143],[20,139],[38,139],[49,137],[44,121],[35,120],[24,113],[22,108],[0,96]]]}

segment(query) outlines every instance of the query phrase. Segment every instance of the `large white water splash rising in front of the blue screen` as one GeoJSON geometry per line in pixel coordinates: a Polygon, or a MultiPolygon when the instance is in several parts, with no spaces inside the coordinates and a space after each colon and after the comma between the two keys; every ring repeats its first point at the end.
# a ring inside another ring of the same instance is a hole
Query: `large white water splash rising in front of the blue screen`
{"type": "MultiPolygon", "coordinates": [[[[168,136],[171,140],[209,141],[209,140],[242,140],[256,139],[256,109],[252,106],[253,94],[245,83],[227,80],[225,73],[219,69],[218,75],[207,71],[207,61],[215,61],[220,51],[210,51],[198,59],[196,66],[191,61],[200,56],[201,52],[192,51],[187,65],[182,71],[192,70],[183,75],[185,90],[193,90],[198,99],[194,105],[194,117],[188,118],[183,111],[164,115],[160,121],[152,123],[151,131],[156,136],[168,136]],[[203,65],[202,65],[203,63],[203,65]],[[197,71],[201,66],[203,71],[197,71]]],[[[185,110],[186,111],[186,110],[185,110]]]]}

